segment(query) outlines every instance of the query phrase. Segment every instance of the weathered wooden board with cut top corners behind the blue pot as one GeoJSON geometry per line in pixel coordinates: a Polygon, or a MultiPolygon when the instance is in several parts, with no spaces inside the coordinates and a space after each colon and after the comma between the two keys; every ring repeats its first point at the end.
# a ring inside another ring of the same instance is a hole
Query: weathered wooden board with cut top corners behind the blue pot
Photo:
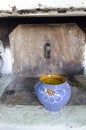
{"type": "Polygon", "coordinates": [[[19,25],[10,33],[9,42],[17,75],[82,73],[85,34],[76,24],[19,25]],[[47,42],[50,58],[44,56],[47,42]]]}

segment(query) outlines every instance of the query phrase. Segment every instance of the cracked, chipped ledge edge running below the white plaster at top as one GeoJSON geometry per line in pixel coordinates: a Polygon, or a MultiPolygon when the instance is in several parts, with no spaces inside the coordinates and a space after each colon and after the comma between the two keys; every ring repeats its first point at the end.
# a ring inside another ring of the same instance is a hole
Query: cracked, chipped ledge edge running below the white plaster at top
{"type": "Polygon", "coordinates": [[[32,9],[32,10],[17,10],[4,11],[0,10],[0,18],[11,17],[71,17],[71,16],[86,16],[86,8],[84,9],[32,9]]]}

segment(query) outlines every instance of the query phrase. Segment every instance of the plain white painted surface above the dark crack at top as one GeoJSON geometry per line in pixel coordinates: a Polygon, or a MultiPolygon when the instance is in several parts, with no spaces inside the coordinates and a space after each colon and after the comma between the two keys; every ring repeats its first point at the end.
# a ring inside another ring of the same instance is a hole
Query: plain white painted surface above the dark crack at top
{"type": "Polygon", "coordinates": [[[85,8],[86,0],[0,0],[0,10],[12,10],[15,5],[20,9],[38,8],[85,8]]]}

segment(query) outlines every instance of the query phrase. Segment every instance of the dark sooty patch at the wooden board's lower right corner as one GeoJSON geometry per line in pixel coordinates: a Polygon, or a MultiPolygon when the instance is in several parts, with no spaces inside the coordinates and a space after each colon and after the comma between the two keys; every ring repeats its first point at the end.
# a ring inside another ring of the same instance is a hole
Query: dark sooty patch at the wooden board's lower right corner
{"type": "Polygon", "coordinates": [[[84,67],[80,63],[65,63],[63,68],[62,68],[62,73],[63,75],[79,75],[83,74],[84,72],[84,67]]]}

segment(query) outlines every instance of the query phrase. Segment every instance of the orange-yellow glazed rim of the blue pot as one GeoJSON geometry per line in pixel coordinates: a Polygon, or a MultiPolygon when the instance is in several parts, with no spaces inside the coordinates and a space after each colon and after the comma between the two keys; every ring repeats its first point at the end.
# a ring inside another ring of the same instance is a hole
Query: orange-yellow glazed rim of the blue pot
{"type": "Polygon", "coordinates": [[[59,74],[46,74],[46,75],[41,76],[39,80],[40,80],[41,83],[46,84],[46,85],[51,85],[51,86],[52,85],[61,85],[61,84],[65,83],[67,81],[64,76],[59,75],[59,74]],[[44,82],[44,80],[47,79],[47,78],[56,78],[56,79],[61,80],[62,83],[60,83],[60,84],[46,84],[44,82]]]}

